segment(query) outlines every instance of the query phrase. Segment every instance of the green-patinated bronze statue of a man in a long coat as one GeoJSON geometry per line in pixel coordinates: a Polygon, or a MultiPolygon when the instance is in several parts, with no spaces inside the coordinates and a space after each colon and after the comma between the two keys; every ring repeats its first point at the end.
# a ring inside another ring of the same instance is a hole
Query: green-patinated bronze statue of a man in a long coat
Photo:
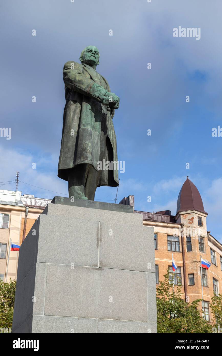
{"type": "Polygon", "coordinates": [[[70,61],[63,68],[66,103],[58,177],[68,181],[69,197],[77,199],[94,200],[97,187],[118,186],[118,171],[111,162],[117,162],[112,119],[120,99],[96,72],[99,57],[98,49],[88,46],[81,64],[70,61]],[[100,162],[107,161],[116,169],[101,169],[100,162]]]}

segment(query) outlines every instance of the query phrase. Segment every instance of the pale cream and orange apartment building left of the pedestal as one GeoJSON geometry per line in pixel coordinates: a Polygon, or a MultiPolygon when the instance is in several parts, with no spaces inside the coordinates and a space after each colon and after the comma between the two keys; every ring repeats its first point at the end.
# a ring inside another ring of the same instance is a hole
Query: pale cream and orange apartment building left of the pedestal
{"type": "Polygon", "coordinates": [[[21,246],[39,214],[50,202],[34,195],[0,190],[0,279],[16,279],[18,251],[9,251],[10,241],[21,246]],[[8,259],[9,257],[9,259],[8,259]],[[7,274],[7,278],[6,278],[7,274]]]}

